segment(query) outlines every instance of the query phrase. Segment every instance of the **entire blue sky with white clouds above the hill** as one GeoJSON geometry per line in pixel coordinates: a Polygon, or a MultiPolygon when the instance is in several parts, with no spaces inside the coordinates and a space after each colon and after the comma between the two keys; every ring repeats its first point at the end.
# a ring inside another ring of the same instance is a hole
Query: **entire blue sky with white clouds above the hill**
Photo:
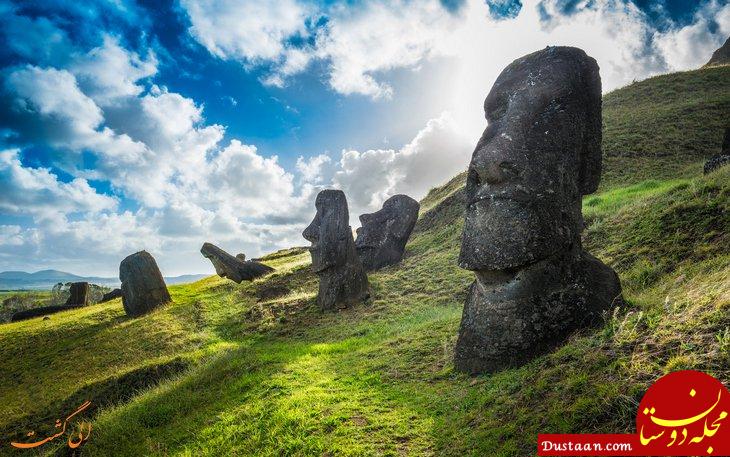
{"type": "Polygon", "coordinates": [[[604,91],[696,68],[727,1],[0,0],[0,270],[211,271],[303,245],[324,187],[353,223],[466,168],[499,71],[579,46],[604,91]]]}

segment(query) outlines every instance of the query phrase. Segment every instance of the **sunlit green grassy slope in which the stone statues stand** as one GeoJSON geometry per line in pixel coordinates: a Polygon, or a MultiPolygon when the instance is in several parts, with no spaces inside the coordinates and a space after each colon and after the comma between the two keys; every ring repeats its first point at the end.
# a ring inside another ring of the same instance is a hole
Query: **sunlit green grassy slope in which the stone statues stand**
{"type": "Polygon", "coordinates": [[[172,286],[173,303],[144,317],[114,300],[0,325],[0,453],[86,399],[84,455],[101,456],[514,456],[534,455],[538,432],[632,431],[662,374],[730,380],[730,167],[641,173],[584,199],[585,246],[619,273],[627,306],[524,367],[453,371],[473,278],[456,266],[457,176],[423,200],[405,259],[371,274],[372,299],[353,309],[318,311],[294,248],[252,283],[172,286]]]}

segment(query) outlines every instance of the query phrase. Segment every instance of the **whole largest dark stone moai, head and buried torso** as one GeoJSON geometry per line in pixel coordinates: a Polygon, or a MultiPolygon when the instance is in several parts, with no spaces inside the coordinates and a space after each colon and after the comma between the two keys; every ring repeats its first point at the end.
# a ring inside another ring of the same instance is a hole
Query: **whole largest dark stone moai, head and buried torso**
{"type": "Polygon", "coordinates": [[[517,59],[499,75],[472,155],[459,265],[476,273],[455,365],[520,365],[600,321],[618,276],[583,250],[581,199],[601,176],[601,79],[571,47],[517,59]]]}

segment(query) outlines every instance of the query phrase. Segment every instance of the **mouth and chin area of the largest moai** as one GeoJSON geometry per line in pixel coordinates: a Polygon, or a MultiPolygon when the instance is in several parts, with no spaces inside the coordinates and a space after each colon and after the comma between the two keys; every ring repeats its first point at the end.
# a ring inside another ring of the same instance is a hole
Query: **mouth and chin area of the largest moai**
{"type": "Polygon", "coordinates": [[[459,266],[467,270],[520,268],[565,247],[560,213],[549,205],[513,200],[478,202],[466,210],[459,266]]]}

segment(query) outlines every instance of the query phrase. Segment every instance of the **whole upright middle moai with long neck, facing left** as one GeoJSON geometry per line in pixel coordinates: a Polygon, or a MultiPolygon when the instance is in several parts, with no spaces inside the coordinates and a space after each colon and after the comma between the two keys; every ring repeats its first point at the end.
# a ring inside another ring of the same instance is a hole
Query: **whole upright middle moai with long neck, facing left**
{"type": "Polygon", "coordinates": [[[312,243],[312,270],[319,276],[323,310],[347,308],[368,297],[368,278],[355,251],[347,200],[341,190],[317,195],[317,214],[302,236],[312,243]]]}

